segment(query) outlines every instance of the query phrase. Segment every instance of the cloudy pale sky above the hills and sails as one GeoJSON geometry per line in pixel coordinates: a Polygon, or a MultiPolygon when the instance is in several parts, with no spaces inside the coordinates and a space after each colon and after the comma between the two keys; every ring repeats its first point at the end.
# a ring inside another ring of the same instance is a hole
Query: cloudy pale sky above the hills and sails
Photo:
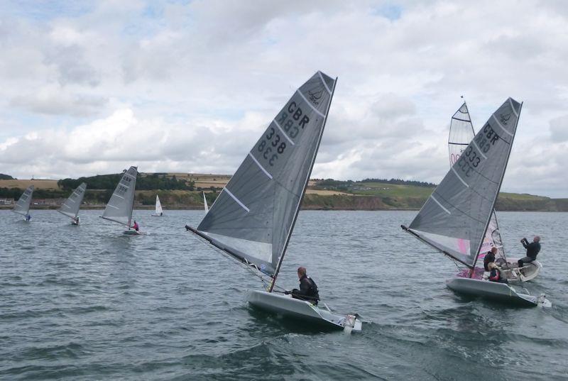
{"type": "Polygon", "coordinates": [[[232,174],[338,77],[312,177],[438,183],[464,96],[523,101],[502,191],[568,197],[568,3],[0,1],[0,173],[232,174]]]}

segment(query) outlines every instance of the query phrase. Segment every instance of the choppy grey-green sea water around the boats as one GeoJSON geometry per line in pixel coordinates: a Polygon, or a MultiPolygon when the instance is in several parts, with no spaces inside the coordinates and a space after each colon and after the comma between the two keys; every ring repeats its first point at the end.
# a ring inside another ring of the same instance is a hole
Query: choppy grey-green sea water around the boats
{"type": "Polygon", "coordinates": [[[363,332],[247,307],[261,283],[183,226],[201,211],[135,211],[146,236],[82,211],[0,211],[0,378],[6,380],[567,380],[568,214],[499,213],[508,253],[540,233],[532,292],[552,309],[463,299],[455,265],[400,229],[415,212],[302,211],[279,284],[305,265],[363,332]]]}

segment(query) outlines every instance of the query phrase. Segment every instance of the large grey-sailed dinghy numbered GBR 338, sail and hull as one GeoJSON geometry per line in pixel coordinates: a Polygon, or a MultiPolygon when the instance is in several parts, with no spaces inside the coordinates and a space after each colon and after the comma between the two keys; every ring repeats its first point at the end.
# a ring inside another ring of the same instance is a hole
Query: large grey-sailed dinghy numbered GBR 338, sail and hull
{"type": "Polygon", "coordinates": [[[302,84],[246,155],[200,225],[186,229],[246,264],[261,279],[268,275],[266,291],[248,295],[253,307],[350,332],[361,331],[356,315],[336,314],[275,289],[335,82],[317,72],[302,84]]]}

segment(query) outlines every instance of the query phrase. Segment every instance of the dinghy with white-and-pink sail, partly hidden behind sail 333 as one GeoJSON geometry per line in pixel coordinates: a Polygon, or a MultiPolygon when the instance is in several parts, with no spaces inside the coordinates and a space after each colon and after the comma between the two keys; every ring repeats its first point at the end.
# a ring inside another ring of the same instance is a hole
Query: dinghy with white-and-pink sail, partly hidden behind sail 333
{"type": "MultiPolygon", "coordinates": [[[[459,160],[464,149],[467,148],[474,136],[474,125],[471,123],[469,110],[464,101],[464,104],[462,104],[452,116],[452,122],[449,125],[448,150],[450,167],[459,160]]],[[[504,269],[503,275],[505,275],[509,281],[526,282],[532,280],[539,274],[540,269],[542,269],[542,264],[534,260],[532,263],[526,263],[520,269],[521,271],[519,271],[517,262],[519,258],[507,258],[505,249],[503,248],[503,241],[501,240],[501,233],[499,233],[495,209],[491,212],[491,219],[489,219],[484,241],[481,243],[481,248],[479,249],[478,261],[482,262],[486,253],[491,250],[491,248],[497,248],[495,262],[504,269]]]]}

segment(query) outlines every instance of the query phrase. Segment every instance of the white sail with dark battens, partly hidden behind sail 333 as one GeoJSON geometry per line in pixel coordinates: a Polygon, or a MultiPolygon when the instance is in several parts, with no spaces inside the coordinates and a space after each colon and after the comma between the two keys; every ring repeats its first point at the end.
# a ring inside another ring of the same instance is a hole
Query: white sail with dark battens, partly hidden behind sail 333
{"type": "MultiPolygon", "coordinates": [[[[464,104],[462,104],[452,116],[452,121],[449,125],[448,151],[450,167],[459,160],[459,157],[474,136],[474,125],[471,123],[469,109],[464,101],[464,104]]],[[[489,220],[489,225],[485,233],[484,242],[481,244],[481,249],[479,250],[479,258],[483,258],[493,247],[498,250],[495,258],[506,258],[505,250],[503,249],[503,241],[501,240],[501,233],[499,233],[495,209],[493,209],[493,212],[491,213],[491,219],[489,220]]]]}

